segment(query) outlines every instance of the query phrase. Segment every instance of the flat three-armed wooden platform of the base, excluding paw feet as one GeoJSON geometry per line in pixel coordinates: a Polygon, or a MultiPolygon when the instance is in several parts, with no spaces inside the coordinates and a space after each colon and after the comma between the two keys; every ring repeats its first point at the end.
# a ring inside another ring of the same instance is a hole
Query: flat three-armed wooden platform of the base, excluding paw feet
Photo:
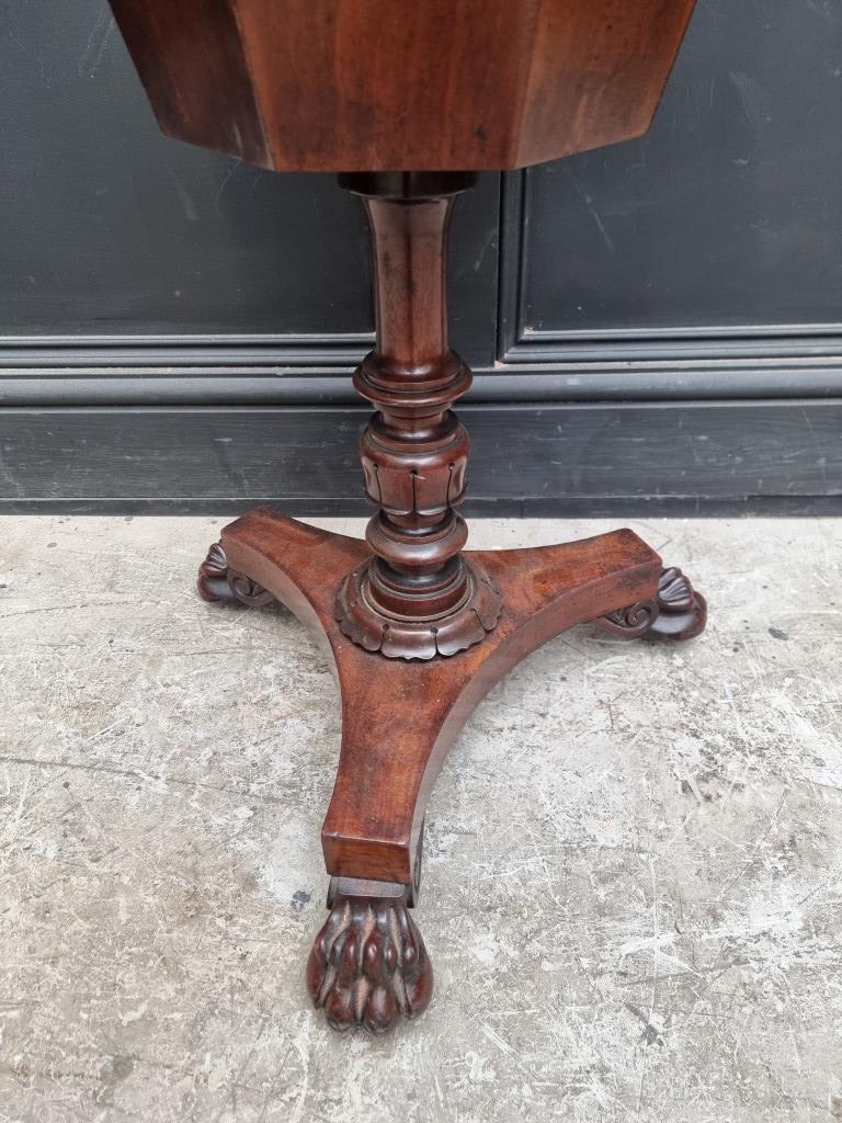
{"type": "Polygon", "coordinates": [[[314,628],[336,661],[342,748],[322,831],[328,873],[412,884],[427,798],[457,733],[512,666],[552,636],[657,596],[661,562],[630,530],[524,550],[468,551],[505,612],[452,659],[384,659],[342,634],[336,586],[365,542],[257,508],[222,531],[230,565],[314,628]]]}

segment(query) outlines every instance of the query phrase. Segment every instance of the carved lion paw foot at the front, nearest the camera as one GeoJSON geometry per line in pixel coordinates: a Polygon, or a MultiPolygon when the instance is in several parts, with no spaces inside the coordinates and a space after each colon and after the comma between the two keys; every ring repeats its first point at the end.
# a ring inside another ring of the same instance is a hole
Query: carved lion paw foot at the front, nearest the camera
{"type": "Polygon", "coordinates": [[[408,912],[409,887],[341,878],[306,965],[313,1004],[339,1031],[386,1033],[432,994],[432,964],[408,912]]]}

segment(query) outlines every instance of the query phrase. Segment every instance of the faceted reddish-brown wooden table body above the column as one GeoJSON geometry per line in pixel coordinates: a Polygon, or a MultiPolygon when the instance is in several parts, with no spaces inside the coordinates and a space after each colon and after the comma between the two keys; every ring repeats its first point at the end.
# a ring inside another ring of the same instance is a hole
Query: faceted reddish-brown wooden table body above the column
{"type": "Polygon", "coordinates": [[[520,167],[640,136],[694,2],[111,7],[168,136],[276,171],[367,172],[520,167]]]}

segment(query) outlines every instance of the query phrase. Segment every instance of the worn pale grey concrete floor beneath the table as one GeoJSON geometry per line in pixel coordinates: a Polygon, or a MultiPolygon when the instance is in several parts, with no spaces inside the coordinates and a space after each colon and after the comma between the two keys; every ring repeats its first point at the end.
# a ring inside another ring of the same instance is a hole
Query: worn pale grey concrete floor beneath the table
{"type": "Polygon", "coordinates": [[[0,520],[3,1123],[842,1120],[842,520],[634,523],[708,631],[578,629],[477,711],[386,1040],[310,1008],[335,687],[193,595],[218,526],[0,520]]]}

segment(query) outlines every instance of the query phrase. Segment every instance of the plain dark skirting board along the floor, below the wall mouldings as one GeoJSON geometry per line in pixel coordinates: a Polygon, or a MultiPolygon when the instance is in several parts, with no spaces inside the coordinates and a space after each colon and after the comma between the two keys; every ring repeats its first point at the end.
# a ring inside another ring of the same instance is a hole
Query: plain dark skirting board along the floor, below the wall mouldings
{"type": "MultiPolygon", "coordinates": [[[[842,399],[465,404],[473,514],[842,513],[842,399]]],[[[353,514],[355,407],[0,409],[0,511],[353,514]]]]}

